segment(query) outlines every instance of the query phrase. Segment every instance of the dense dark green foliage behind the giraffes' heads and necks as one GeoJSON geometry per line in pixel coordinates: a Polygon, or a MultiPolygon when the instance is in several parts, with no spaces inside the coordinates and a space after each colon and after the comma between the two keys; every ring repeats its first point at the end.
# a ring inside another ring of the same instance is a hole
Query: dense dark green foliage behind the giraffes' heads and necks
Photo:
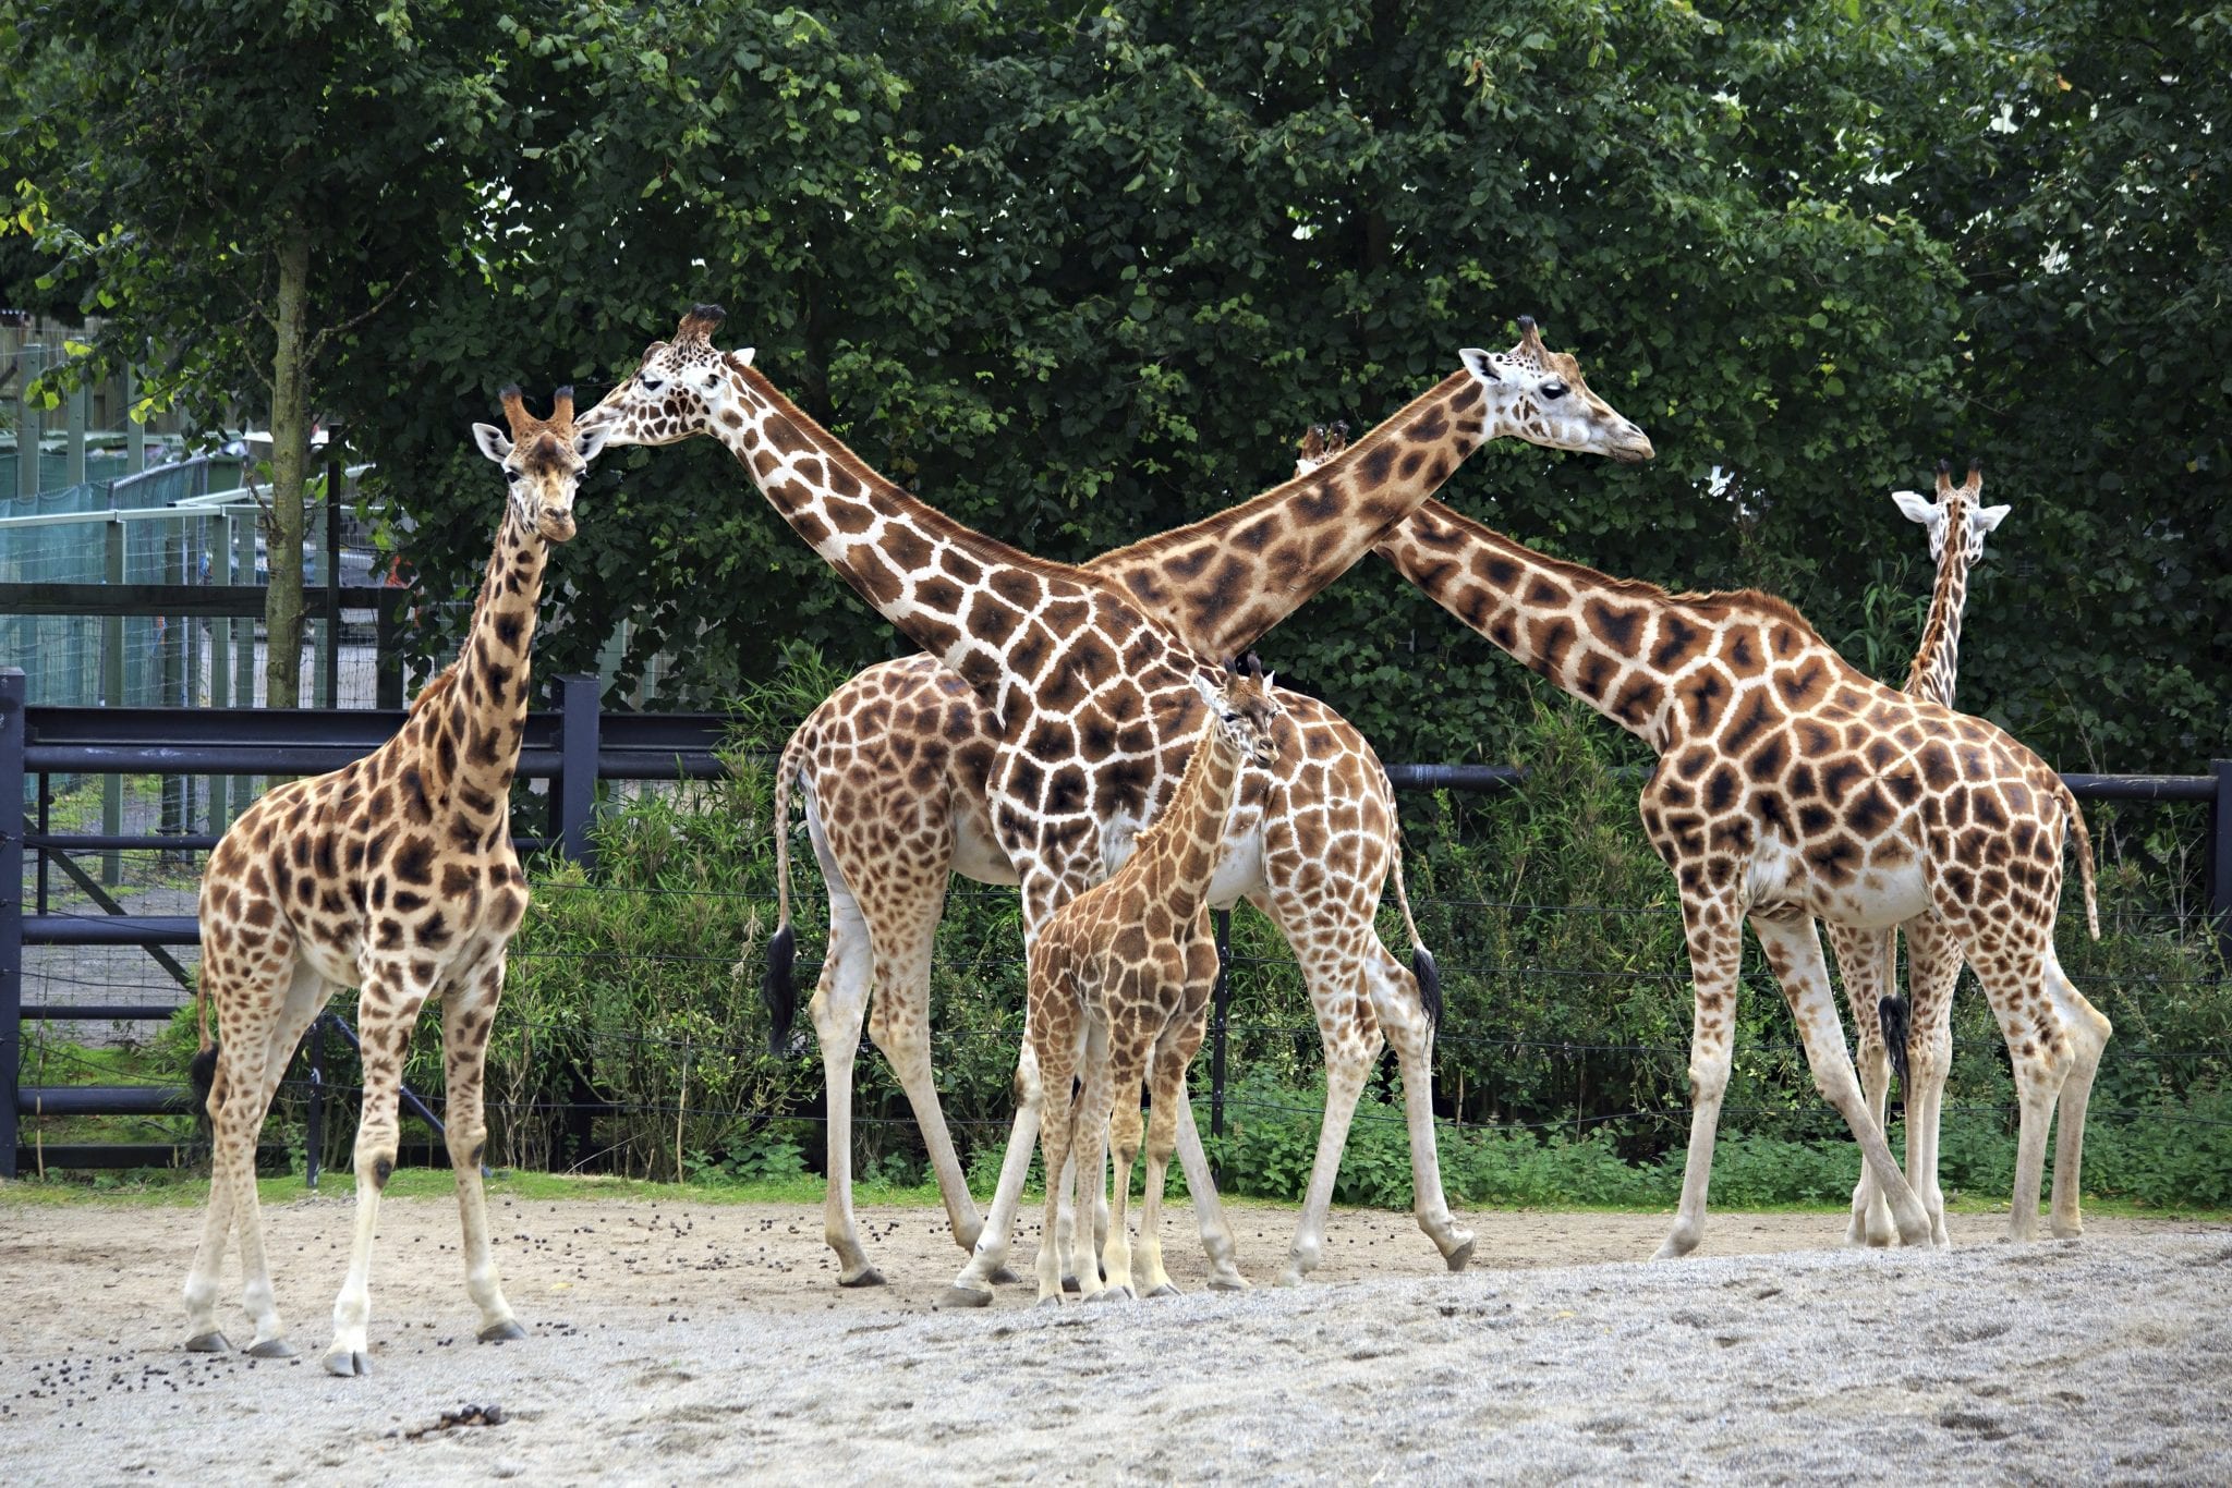
{"type": "MultiPolygon", "coordinates": [[[[870,462],[1060,558],[1261,489],[1301,424],[1366,426],[1531,312],[1661,455],[1495,448],[1455,504],[1616,573],[1777,589],[1897,674],[1926,553],[1884,493],[1978,453],[2015,515],[1964,700],[2067,767],[2223,752],[2223,4],[567,0],[413,7],[408,38],[402,13],[286,7],[348,45],[281,91],[324,100],[304,183],[408,172],[339,203],[362,268],[321,279],[330,315],[408,286],[319,397],[435,591],[487,551],[464,431],[493,390],[600,393],[696,299],[870,462]]],[[[29,45],[31,9],[0,16],[29,45]]],[[[20,201],[60,199],[67,154],[20,201]]],[[[176,239],[179,279],[221,239],[176,239]]],[[[558,571],[554,663],[634,618],[632,663],[685,647],[699,698],[792,638],[895,645],[708,444],[607,457],[558,571]]],[[[1509,759],[1531,707],[1377,564],[1266,656],[1391,759],[1509,759]]]]}

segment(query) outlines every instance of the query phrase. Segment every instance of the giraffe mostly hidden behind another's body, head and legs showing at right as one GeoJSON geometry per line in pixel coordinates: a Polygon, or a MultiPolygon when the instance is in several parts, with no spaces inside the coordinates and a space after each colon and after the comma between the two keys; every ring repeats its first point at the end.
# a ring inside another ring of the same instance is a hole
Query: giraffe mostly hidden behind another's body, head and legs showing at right
{"type": "MultiPolygon", "coordinates": [[[[1937,464],[1937,500],[1915,491],[1893,491],[1891,500],[1931,538],[1931,560],[1937,582],[1931,611],[1922,625],[1922,645],[1906,667],[1906,696],[1953,707],[1953,685],[1960,674],[1960,616],[1969,598],[1969,567],[1984,555],[1984,533],[2000,526],[2007,506],[1978,506],[1984,493],[1982,462],[1969,462],[1966,484],[1955,486],[1951,466],[1937,464]],[[1949,540],[1951,538],[1951,540],[1949,540]]],[[[1853,1004],[1853,1026],[1859,1033],[1859,1084],[1868,1095],[1868,1118],[1884,1124],[1884,1100],[1891,1071],[1906,1086],[1906,1182],[1931,1216],[1931,1243],[1949,1245],[1946,1200],[1937,1187],[1937,1104],[1953,1060],[1953,986],[1960,979],[1960,953],[1937,924],[1920,915],[1897,930],[1859,930],[1828,926],[1830,953],[1844,975],[1846,1002],[1853,1004]],[[1906,933],[1906,968],[1913,997],[1897,995],[1897,959],[1893,937],[1906,933]],[[1920,1017],[1908,1020],[1908,1011],[1920,1017]],[[1893,1049],[1886,1049],[1886,1037],[1893,1049]]],[[[1884,1205],[1868,1169],[1853,1189],[1853,1218],[1846,1245],[1891,1245],[1891,1209],[1884,1205]]]]}

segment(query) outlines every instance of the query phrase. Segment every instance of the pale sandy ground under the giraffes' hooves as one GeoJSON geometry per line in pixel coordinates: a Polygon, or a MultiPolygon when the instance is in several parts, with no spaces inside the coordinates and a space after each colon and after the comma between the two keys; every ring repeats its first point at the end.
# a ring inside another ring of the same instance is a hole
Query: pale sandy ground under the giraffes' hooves
{"type": "MultiPolygon", "coordinates": [[[[1888,1479],[2223,1481],[2232,1227],[1830,1249],[1837,1216],[1337,1214],[1301,1289],[935,1312],[944,1216],[864,1209],[893,1285],[839,1292],[817,1209],[496,1200],[525,1343],[475,1345],[455,1207],[382,1209],[371,1379],[317,1368],[348,1202],[266,1209],[297,1361],[179,1350],[192,1209],[0,1189],[0,1477],[33,1481],[1888,1479]],[[440,1426],[462,1405],[500,1426],[440,1426]]],[[[1292,1214],[1237,1209],[1277,1274],[1292,1214]]],[[[1178,1209],[1172,1274],[1201,1281],[1178,1209]],[[1183,1243],[1181,1243],[1183,1240],[1183,1243]]],[[[1018,1238],[1018,1269],[1036,1236],[1018,1238]]],[[[228,1281],[228,1289],[230,1289],[228,1281]]],[[[232,1310],[221,1312],[230,1323],[232,1310]]],[[[246,1336],[246,1330],[241,1330],[246,1336]]]]}

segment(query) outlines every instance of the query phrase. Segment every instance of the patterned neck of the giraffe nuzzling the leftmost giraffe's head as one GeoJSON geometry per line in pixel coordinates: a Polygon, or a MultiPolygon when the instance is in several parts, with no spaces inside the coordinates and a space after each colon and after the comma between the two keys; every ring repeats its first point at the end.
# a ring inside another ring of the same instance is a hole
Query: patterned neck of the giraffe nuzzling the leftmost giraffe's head
{"type": "MultiPolygon", "coordinates": [[[[1033,689],[1060,638],[1089,622],[1129,629],[1098,580],[962,526],[877,475],[757,368],[728,361],[725,373],[741,413],[716,419],[714,433],[768,504],[1002,716],[1009,692],[1033,689]]],[[[1125,636],[1112,640],[1120,649],[1125,636]]]]}

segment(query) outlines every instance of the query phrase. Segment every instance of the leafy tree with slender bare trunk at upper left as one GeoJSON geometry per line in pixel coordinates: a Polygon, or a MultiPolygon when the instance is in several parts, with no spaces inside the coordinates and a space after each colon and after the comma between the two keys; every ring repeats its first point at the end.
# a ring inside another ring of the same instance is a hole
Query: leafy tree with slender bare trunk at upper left
{"type": "Polygon", "coordinates": [[[297,703],[304,484],[321,384],[359,330],[471,252],[502,123],[475,7],[183,0],[0,7],[16,223],[89,283],[78,373],[154,357],[152,402],[272,431],[266,696],[297,703]]]}

